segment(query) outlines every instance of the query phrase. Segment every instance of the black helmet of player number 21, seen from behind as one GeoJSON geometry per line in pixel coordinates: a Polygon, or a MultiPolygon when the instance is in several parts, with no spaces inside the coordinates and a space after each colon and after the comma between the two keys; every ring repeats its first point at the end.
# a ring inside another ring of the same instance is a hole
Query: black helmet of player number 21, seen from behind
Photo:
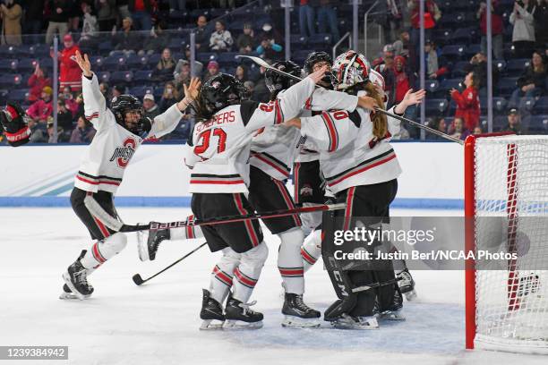
{"type": "Polygon", "coordinates": [[[218,73],[205,81],[200,90],[200,103],[211,114],[227,106],[240,104],[245,98],[247,89],[244,84],[227,73],[218,73]]]}

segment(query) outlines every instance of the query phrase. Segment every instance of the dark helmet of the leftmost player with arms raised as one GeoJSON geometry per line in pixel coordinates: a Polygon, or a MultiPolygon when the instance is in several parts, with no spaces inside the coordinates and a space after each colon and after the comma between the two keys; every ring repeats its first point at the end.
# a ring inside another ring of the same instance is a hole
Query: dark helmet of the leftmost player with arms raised
{"type": "Polygon", "coordinates": [[[119,95],[110,102],[110,109],[116,117],[116,123],[123,126],[129,132],[145,138],[152,128],[150,118],[144,116],[141,101],[133,95],[119,95]],[[128,120],[127,114],[130,114],[128,120]]]}

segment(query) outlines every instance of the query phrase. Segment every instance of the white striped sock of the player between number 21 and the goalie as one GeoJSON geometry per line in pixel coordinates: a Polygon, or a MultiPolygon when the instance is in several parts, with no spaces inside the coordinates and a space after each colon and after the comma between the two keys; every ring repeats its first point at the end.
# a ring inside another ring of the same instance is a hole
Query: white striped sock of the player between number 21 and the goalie
{"type": "Polygon", "coordinates": [[[304,293],[304,267],[301,246],[304,242],[303,230],[291,228],[278,234],[281,241],[278,250],[278,270],[282,276],[286,292],[304,293]]]}

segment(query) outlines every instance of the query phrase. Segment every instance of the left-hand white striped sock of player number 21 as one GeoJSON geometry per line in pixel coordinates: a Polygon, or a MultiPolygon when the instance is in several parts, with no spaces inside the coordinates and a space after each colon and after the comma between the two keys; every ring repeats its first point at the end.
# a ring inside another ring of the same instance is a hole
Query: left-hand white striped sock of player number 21
{"type": "Polygon", "coordinates": [[[226,248],[223,250],[223,257],[211,271],[210,296],[219,303],[225,301],[230,287],[232,287],[232,278],[234,270],[240,263],[240,254],[226,248]]]}

